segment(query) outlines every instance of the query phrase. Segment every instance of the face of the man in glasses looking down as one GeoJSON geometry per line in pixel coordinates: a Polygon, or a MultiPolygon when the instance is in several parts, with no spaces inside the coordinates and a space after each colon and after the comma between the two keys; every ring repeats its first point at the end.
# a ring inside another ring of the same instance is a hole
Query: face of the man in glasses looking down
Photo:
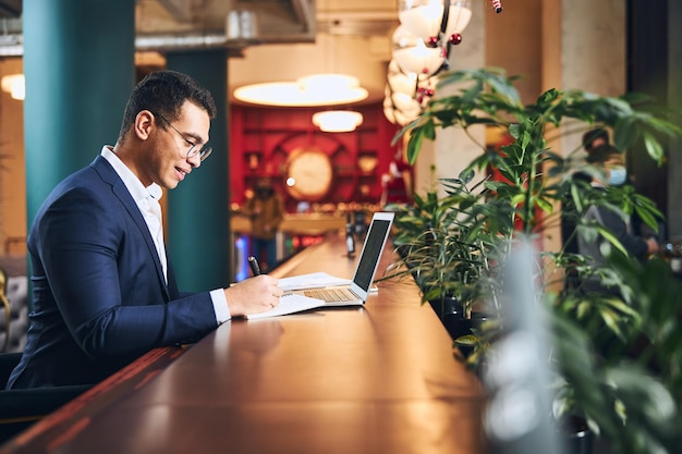
{"type": "Polygon", "coordinates": [[[173,189],[194,168],[200,165],[199,156],[187,158],[187,152],[193,146],[200,149],[208,142],[210,119],[205,110],[186,101],[180,110],[180,116],[171,121],[172,127],[167,125],[163,128],[160,122],[156,119],[151,149],[143,157],[143,165],[151,182],[173,189]]]}

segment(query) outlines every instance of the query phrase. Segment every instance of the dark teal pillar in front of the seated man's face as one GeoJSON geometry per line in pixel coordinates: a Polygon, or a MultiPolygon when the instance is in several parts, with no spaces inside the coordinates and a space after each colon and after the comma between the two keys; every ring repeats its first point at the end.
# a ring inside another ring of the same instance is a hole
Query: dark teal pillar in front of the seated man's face
{"type": "Polygon", "coordinates": [[[168,192],[167,245],[183,291],[206,291],[230,282],[228,191],[228,51],[172,52],[167,69],[196,78],[212,95],[218,114],[211,121],[214,152],[175,189],[168,192]]]}

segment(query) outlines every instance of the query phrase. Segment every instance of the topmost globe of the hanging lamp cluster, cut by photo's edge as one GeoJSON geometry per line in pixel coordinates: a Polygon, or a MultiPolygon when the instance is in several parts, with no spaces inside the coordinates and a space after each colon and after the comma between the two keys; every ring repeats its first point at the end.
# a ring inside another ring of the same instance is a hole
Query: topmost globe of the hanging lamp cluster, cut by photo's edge
{"type": "Polygon", "coordinates": [[[437,40],[441,34],[447,40],[468,25],[471,0],[400,0],[398,19],[425,42],[437,40]]]}

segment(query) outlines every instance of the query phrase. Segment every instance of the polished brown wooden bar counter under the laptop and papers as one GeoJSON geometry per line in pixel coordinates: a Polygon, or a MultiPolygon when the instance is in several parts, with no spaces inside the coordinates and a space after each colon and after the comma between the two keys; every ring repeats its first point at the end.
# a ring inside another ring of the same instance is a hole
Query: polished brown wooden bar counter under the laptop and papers
{"type": "MultiPolygon", "coordinates": [[[[377,275],[392,259],[390,245],[386,249],[377,275]]],[[[350,278],[355,260],[331,235],[272,274],[350,278]]],[[[160,370],[148,366],[169,355],[150,352],[0,451],[483,451],[483,388],[453,358],[450,336],[410,281],[381,282],[364,308],[232,320],[160,370]],[[121,384],[131,381],[135,385],[121,384]]]]}

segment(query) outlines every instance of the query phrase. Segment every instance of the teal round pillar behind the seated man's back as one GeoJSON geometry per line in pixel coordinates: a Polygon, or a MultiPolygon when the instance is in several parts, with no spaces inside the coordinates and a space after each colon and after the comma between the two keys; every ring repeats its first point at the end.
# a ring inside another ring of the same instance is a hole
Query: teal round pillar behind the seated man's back
{"type": "Polygon", "coordinates": [[[64,176],[115,143],[135,83],[135,0],[24,0],[28,229],[64,176]]]}

